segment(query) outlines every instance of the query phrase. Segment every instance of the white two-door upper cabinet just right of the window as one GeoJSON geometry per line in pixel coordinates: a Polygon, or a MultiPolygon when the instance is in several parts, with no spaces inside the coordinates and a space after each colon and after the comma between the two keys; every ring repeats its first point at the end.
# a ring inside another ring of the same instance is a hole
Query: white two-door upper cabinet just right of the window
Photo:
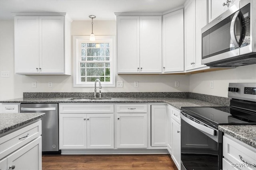
{"type": "Polygon", "coordinates": [[[161,73],[161,35],[161,16],[118,16],[118,73],[161,73]]]}

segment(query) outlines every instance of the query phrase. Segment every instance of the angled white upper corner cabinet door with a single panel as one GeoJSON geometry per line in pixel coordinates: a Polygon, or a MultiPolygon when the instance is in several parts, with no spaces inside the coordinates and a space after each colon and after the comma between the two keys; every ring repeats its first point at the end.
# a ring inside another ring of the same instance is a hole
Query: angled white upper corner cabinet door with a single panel
{"type": "Polygon", "coordinates": [[[163,16],[163,72],[184,71],[183,9],[163,16]]]}

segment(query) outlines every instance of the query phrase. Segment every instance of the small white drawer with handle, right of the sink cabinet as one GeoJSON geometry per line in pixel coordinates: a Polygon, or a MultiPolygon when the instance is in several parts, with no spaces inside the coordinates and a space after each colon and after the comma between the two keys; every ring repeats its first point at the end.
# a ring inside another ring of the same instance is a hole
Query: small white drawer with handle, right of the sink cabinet
{"type": "Polygon", "coordinates": [[[147,113],[146,104],[118,104],[116,105],[117,113],[147,113]]]}

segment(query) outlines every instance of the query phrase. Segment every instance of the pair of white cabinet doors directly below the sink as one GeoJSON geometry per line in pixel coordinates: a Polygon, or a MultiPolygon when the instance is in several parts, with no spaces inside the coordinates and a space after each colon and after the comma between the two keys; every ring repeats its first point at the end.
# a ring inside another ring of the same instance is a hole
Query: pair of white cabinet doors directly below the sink
{"type": "Polygon", "coordinates": [[[114,114],[60,114],[60,149],[114,149],[114,114]]]}

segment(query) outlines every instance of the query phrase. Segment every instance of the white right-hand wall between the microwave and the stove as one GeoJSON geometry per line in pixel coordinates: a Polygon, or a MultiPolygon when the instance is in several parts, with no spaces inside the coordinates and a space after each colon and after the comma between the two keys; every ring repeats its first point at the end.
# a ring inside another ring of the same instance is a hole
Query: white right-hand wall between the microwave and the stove
{"type": "Polygon", "coordinates": [[[256,83],[256,64],[190,75],[189,92],[228,97],[228,83],[256,83]],[[210,88],[210,81],[214,88],[210,88]]]}

